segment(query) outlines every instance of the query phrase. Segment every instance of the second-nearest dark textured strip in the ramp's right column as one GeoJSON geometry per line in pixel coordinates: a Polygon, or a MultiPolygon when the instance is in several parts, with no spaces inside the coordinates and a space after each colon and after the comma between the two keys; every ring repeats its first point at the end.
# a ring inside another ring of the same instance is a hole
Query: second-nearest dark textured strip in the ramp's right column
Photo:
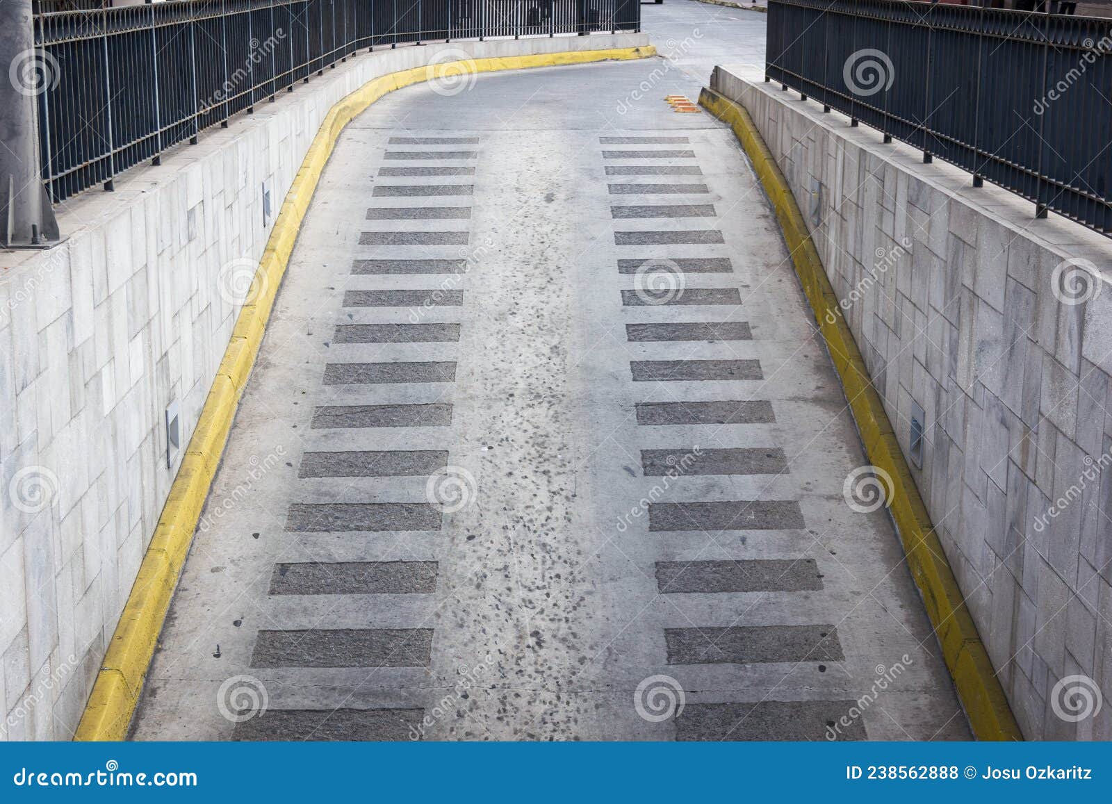
{"type": "Polygon", "coordinates": [[[833,625],[733,625],[665,628],[668,664],[837,662],[842,645],[833,625]]]}

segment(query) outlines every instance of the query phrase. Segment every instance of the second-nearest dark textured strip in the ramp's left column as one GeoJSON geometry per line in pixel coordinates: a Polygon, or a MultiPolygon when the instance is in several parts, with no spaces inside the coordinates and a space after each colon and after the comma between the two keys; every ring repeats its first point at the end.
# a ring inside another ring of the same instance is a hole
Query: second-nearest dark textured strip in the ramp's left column
{"type": "Polygon", "coordinates": [[[431,628],[260,631],[251,667],[428,667],[431,628]]]}

